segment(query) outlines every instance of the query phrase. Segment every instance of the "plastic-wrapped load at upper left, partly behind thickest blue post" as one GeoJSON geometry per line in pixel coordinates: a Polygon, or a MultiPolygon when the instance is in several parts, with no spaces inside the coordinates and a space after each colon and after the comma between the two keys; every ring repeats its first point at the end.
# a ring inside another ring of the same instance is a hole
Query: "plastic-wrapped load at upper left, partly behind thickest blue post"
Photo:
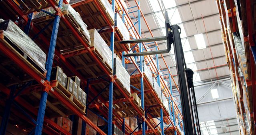
{"type": "MultiPolygon", "coordinates": [[[[45,8],[44,10],[47,12],[50,12],[51,14],[55,14],[55,10],[52,7],[45,8]]],[[[90,44],[90,35],[87,30],[87,25],[83,22],[80,14],[78,12],[76,12],[76,10],[74,10],[74,8],[72,8],[72,6],[70,6],[70,4],[63,4],[61,10],[62,10],[62,12],[68,12],[74,18],[74,20],[77,22],[77,24],[81,28],[83,34],[89,40],[89,44],[90,44]]],[[[36,14],[34,14],[32,19],[42,18],[44,16],[50,16],[50,15],[46,14],[45,12],[40,11],[40,12],[37,12],[36,14]]]]}

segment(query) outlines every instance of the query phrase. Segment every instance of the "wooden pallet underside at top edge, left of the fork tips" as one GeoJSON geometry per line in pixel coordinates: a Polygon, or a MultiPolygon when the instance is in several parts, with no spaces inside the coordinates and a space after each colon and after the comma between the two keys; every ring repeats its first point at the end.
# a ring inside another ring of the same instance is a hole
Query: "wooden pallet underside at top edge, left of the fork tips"
{"type": "MultiPolygon", "coordinates": [[[[100,29],[102,27],[108,26],[106,19],[100,12],[100,9],[96,6],[97,2],[101,7],[101,10],[106,15],[106,18],[109,20],[112,26],[114,26],[114,18],[110,17],[110,13],[107,12],[106,7],[102,4],[101,0],[91,0],[90,2],[81,2],[83,4],[76,6],[76,3],[71,6],[80,14],[83,21],[88,26],[88,29],[96,28],[100,29]]],[[[79,2],[78,2],[79,3],[79,2]]]]}

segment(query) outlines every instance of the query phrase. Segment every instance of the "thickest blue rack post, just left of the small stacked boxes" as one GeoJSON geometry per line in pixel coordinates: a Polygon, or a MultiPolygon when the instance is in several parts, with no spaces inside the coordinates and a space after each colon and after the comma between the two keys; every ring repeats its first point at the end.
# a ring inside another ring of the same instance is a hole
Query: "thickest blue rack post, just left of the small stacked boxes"
{"type": "MultiPolygon", "coordinates": [[[[59,1],[58,7],[62,7],[62,0],[59,1]]],[[[51,36],[51,40],[50,40],[50,48],[48,51],[48,57],[47,57],[47,61],[46,61],[46,70],[47,70],[46,80],[50,80],[50,76],[51,76],[52,62],[53,62],[53,58],[54,58],[54,51],[55,51],[55,46],[56,46],[59,24],[60,24],[60,16],[56,16],[54,18],[54,24],[53,24],[53,28],[52,28],[52,36],[51,36]]],[[[42,134],[47,96],[48,96],[48,93],[46,91],[43,91],[42,95],[41,95],[41,99],[40,99],[39,109],[38,109],[35,135],[42,134]]]]}

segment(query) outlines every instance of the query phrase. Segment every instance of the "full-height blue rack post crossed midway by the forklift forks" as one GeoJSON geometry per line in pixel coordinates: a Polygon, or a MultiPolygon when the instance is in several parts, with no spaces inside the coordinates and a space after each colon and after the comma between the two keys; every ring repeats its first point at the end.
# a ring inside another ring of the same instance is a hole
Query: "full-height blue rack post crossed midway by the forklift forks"
{"type": "MultiPolygon", "coordinates": [[[[140,28],[140,2],[138,2],[139,5],[139,9],[138,9],[138,28],[139,28],[139,34],[141,36],[141,28],[140,28]]],[[[143,52],[143,48],[142,48],[142,43],[139,44],[139,48],[140,48],[140,52],[143,52]]],[[[140,56],[140,71],[142,72],[142,75],[140,77],[140,96],[141,96],[141,107],[142,109],[145,110],[144,107],[144,86],[143,86],[143,61],[144,61],[144,56],[140,56]]],[[[146,68],[146,67],[144,67],[146,68]]],[[[145,129],[145,121],[142,121],[142,135],[146,135],[146,129],[145,129]]]]}

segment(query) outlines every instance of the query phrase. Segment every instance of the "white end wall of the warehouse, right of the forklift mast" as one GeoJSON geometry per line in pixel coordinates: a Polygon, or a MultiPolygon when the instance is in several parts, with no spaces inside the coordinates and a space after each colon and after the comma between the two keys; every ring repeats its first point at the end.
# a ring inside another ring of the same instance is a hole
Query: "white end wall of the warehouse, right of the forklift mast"
{"type": "MultiPolygon", "coordinates": [[[[223,81],[230,85],[230,80],[223,81]]],[[[202,85],[195,87],[196,99],[198,100],[202,95],[212,86],[212,84],[202,85]]],[[[198,116],[200,121],[209,121],[209,120],[217,120],[217,119],[226,119],[231,117],[236,117],[235,105],[233,98],[232,89],[222,83],[216,84],[212,89],[218,90],[219,98],[213,99],[212,94],[209,91],[204,98],[198,102],[198,116]],[[217,101],[226,99],[223,101],[217,101]],[[210,101],[215,101],[212,103],[206,103],[210,101]],[[204,103],[204,104],[200,104],[204,103]]]]}

